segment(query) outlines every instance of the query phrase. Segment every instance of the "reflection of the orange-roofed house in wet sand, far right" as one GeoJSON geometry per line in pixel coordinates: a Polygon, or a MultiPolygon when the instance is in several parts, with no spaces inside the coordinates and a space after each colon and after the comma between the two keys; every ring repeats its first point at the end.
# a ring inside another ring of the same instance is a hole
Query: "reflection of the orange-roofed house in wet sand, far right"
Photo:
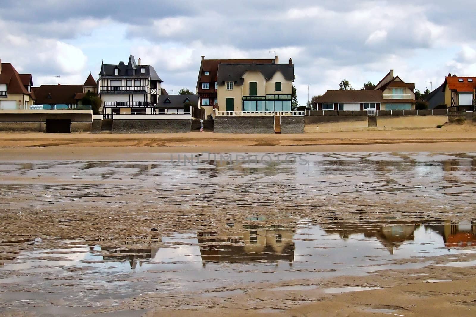
{"type": "Polygon", "coordinates": [[[446,248],[476,244],[476,221],[454,222],[447,220],[442,225],[432,225],[430,228],[443,237],[446,248]]]}

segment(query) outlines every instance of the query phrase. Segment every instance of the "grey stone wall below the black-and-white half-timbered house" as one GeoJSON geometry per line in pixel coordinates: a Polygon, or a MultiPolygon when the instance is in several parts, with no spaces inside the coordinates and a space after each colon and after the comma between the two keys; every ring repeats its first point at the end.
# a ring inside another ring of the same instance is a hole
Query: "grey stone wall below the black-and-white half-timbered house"
{"type": "Polygon", "coordinates": [[[190,119],[114,119],[112,133],[186,133],[190,119]]]}

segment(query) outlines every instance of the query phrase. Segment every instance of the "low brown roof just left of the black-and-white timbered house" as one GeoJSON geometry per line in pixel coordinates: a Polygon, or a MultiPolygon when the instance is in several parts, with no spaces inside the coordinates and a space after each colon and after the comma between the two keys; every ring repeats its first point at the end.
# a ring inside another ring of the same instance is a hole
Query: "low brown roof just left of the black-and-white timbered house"
{"type": "Polygon", "coordinates": [[[76,104],[76,96],[82,94],[83,85],[41,85],[33,89],[38,105],[76,104]]]}

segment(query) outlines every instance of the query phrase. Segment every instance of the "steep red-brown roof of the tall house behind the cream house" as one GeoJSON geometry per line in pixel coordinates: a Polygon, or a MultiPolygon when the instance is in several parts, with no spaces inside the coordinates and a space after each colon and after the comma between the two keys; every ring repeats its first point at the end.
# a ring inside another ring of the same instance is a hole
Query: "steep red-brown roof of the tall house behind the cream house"
{"type": "Polygon", "coordinates": [[[271,59],[202,59],[200,72],[198,74],[197,89],[198,92],[215,92],[215,82],[217,81],[219,64],[272,64],[276,61],[271,59]],[[209,75],[204,72],[208,71],[209,75]],[[202,89],[200,83],[210,83],[210,89],[202,89]]]}

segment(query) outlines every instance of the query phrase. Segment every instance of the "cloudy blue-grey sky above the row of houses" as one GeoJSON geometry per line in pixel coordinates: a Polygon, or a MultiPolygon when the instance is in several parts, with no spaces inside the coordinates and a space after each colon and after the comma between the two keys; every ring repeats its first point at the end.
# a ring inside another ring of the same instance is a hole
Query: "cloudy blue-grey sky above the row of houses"
{"type": "Polygon", "coordinates": [[[1,0],[0,58],[35,86],[83,83],[129,54],[163,87],[195,91],[206,58],[293,58],[297,96],[360,88],[390,68],[424,90],[451,72],[476,76],[476,1],[1,0]]]}

